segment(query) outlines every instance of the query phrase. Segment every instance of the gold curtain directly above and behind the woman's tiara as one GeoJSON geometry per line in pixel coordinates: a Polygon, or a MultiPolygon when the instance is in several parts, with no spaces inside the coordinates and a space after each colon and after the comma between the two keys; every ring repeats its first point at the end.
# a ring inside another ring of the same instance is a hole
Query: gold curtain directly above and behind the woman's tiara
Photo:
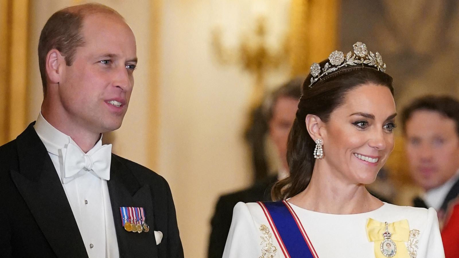
{"type": "Polygon", "coordinates": [[[340,0],[292,0],[290,62],[293,76],[336,50],[340,0]]]}

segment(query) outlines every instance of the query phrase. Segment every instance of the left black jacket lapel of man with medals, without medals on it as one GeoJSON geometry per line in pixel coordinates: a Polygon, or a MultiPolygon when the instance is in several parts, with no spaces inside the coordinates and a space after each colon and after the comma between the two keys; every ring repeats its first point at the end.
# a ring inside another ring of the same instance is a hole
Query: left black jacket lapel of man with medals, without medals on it
{"type": "Polygon", "coordinates": [[[19,171],[11,171],[11,178],[57,257],[88,257],[59,176],[33,125],[16,139],[19,171]]]}

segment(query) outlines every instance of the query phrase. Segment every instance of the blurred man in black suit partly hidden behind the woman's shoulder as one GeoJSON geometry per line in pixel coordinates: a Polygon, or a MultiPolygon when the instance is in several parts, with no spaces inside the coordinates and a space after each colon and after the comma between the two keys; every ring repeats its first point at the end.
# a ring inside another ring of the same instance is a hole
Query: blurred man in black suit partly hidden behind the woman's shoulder
{"type": "Polygon", "coordinates": [[[236,203],[271,201],[271,187],[278,179],[288,176],[287,138],[295,120],[303,81],[304,78],[292,79],[275,90],[268,99],[266,113],[269,137],[273,140],[279,154],[280,168],[275,175],[255,182],[249,188],[220,196],[211,220],[208,258],[222,257],[236,203]]]}

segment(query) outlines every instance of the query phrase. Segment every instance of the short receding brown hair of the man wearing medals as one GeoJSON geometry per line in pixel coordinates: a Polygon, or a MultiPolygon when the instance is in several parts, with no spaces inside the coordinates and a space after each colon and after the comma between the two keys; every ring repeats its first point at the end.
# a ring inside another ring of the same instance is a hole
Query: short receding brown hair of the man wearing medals
{"type": "Polygon", "coordinates": [[[84,17],[95,13],[111,14],[123,19],[117,11],[108,6],[90,3],[56,11],[41,30],[38,42],[38,64],[44,95],[46,95],[47,86],[46,55],[50,50],[56,49],[64,56],[66,65],[71,66],[77,47],[84,45],[81,35],[84,17]]]}

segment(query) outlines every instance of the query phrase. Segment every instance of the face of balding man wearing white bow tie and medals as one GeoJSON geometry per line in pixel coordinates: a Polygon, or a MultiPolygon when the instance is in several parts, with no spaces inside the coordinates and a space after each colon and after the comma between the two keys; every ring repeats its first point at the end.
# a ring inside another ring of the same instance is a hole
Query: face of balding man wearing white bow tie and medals
{"type": "Polygon", "coordinates": [[[119,17],[102,13],[85,17],[81,34],[84,45],[59,83],[62,123],[94,133],[118,129],[134,86],[134,34],[119,17]]]}

